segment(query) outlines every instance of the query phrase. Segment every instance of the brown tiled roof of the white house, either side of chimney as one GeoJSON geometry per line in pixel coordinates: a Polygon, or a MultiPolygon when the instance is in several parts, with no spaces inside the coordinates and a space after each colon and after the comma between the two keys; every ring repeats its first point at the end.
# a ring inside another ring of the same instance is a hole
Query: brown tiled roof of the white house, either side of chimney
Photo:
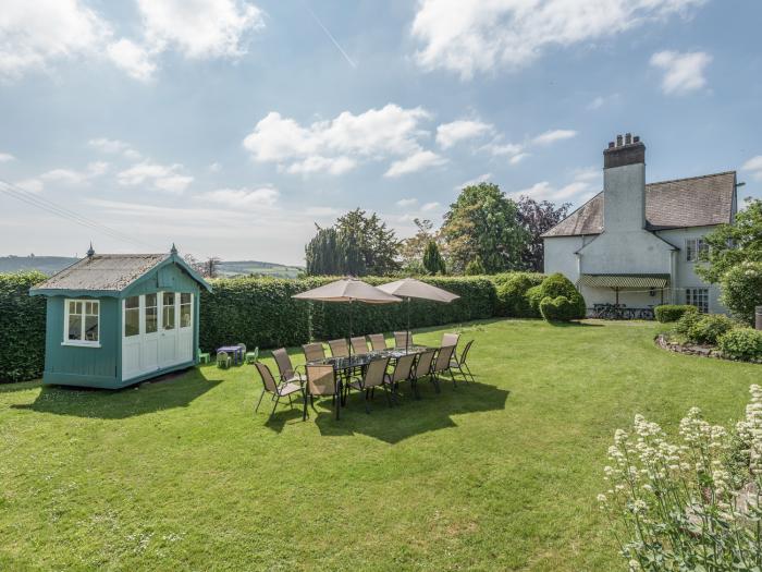
{"type": "MultiPolygon", "coordinates": [[[[735,171],[647,184],[646,228],[663,230],[730,222],[735,184],[735,171]]],[[[599,193],[543,236],[600,234],[603,203],[603,193],[599,193]]]]}

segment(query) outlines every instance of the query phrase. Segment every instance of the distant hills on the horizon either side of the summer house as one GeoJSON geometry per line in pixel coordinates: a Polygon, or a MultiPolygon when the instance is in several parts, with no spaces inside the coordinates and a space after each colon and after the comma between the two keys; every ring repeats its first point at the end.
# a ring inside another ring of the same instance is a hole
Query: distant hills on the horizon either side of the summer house
{"type": "MultiPolygon", "coordinates": [[[[77,260],[78,258],[69,256],[0,256],[0,272],[39,270],[46,275],[54,275],[77,260]]],[[[260,263],[258,260],[223,261],[220,263],[218,267],[220,276],[225,278],[248,275],[271,276],[273,278],[296,278],[303,270],[304,269],[298,266],[260,263]]]]}

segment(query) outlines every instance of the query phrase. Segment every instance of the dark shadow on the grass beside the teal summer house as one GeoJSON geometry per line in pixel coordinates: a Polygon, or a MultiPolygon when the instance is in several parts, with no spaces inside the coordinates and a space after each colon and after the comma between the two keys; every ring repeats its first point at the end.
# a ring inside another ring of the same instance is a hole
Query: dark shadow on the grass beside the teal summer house
{"type": "Polygon", "coordinates": [[[124,419],[157,411],[187,407],[220,382],[206,379],[194,368],[118,390],[42,386],[33,403],[11,407],[56,415],[124,419]]]}

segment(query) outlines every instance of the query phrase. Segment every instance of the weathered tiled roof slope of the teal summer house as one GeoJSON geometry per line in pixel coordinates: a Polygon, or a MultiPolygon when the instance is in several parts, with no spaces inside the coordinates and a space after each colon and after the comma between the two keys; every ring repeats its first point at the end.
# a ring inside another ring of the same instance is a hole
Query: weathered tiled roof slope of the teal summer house
{"type": "Polygon", "coordinates": [[[95,254],[50,277],[33,290],[121,292],[170,254],[95,254]]]}

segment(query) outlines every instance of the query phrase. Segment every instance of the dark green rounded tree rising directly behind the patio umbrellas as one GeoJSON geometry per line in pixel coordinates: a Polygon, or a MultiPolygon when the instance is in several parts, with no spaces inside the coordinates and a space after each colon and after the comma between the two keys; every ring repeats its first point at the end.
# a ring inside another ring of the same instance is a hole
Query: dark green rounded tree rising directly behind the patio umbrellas
{"type": "Polygon", "coordinates": [[[400,241],[374,212],[359,208],[321,229],[305,247],[307,273],[383,276],[398,269],[400,241]]]}

